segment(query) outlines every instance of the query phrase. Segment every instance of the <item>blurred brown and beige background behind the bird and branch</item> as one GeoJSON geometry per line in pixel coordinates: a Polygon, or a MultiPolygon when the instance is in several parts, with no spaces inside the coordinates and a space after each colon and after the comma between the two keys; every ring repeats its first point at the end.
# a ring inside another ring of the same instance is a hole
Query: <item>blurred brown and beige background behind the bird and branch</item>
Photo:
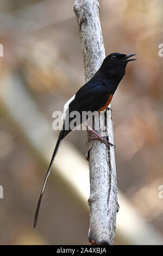
{"type": "MultiPolygon", "coordinates": [[[[163,3],[100,5],[106,54],[137,54],[112,100],[120,204],[115,245],[163,244],[163,3]]],[[[73,1],[1,0],[0,12],[0,244],[88,245],[85,131],[62,143],[33,228],[59,133],[52,113],[84,84],[73,1]]]]}

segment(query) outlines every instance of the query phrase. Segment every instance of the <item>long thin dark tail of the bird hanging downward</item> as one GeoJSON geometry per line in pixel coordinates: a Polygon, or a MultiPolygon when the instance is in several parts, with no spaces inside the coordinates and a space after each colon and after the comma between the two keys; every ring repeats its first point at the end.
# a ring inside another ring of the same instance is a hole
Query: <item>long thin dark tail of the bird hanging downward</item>
{"type": "Polygon", "coordinates": [[[53,162],[54,162],[55,155],[57,155],[58,148],[59,148],[59,145],[60,145],[62,139],[63,139],[69,132],[71,132],[71,130],[65,131],[65,130],[64,130],[64,127],[63,127],[62,130],[61,130],[60,133],[59,133],[58,141],[57,141],[57,143],[56,143],[56,145],[55,145],[55,149],[54,149],[54,152],[53,152],[53,155],[52,155],[51,162],[50,162],[50,164],[49,164],[49,168],[48,168],[48,171],[47,171],[47,174],[46,174],[46,177],[45,177],[45,181],[43,182],[43,186],[42,186],[42,190],[41,190],[39,202],[37,203],[37,208],[36,208],[35,218],[34,218],[34,228],[35,228],[36,225],[37,225],[37,219],[38,219],[38,216],[39,216],[39,209],[40,209],[40,205],[41,205],[41,200],[42,200],[43,192],[44,192],[44,190],[45,190],[48,177],[49,177],[49,175],[50,175],[50,173],[51,173],[51,169],[52,169],[52,165],[53,165],[53,162]]]}

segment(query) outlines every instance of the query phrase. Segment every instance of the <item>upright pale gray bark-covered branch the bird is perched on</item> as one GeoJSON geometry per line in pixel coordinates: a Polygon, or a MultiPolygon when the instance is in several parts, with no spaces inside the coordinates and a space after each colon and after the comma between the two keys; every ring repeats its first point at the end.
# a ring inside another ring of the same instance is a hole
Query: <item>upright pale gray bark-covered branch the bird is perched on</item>
{"type": "MultiPolygon", "coordinates": [[[[95,75],[105,58],[105,49],[101,23],[99,19],[99,2],[97,0],[74,0],[74,13],[79,28],[83,49],[85,81],[95,75]]],[[[108,136],[114,144],[114,133],[111,111],[105,111],[99,117],[107,124],[106,133],[103,127],[97,132],[108,136]]],[[[100,141],[90,141],[92,133],[87,131],[86,158],[90,168],[90,227],[89,241],[92,244],[112,245],[116,228],[117,178],[114,147],[106,146],[100,141]]]]}

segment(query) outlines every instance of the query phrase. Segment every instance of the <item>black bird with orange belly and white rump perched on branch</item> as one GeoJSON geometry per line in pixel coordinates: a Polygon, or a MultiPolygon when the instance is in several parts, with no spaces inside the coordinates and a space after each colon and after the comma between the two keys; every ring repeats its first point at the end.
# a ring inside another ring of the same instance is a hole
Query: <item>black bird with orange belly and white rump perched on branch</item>
{"type": "MultiPolygon", "coordinates": [[[[68,117],[70,117],[70,113],[72,111],[78,111],[81,115],[83,111],[97,111],[101,112],[104,109],[108,108],[112,96],[114,95],[118,84],[121,82],[123,76],[126,72],[126,66],[128,62],[131,62],[136,59],[130,59],[130,57],[135,56],[136,54],[123,54],[123,53],[111,53],[104,60],[96,72],[96,74],[82,86],[78,92],[71,97],[65,103],[64,111],[62,114],[62,119],[64,121],[62,129],[60,130],[58,141],[55,145],[54,152],[52,155],[51,162],[49,163],[49,167],[47,170],[45,181],[43,182],[42,190],[39,197],[39,202],[37,203],[37,208],[34,217],[34,228],[37,225],[37,218],[39,215],[40,204],[43,196],[43,192],[45,191],[45,187],[47,184],[48,177],[51,173],[51,168],[54,162],[55,155],[57,154],[59,145],[68,133],[72,131],[70,127],[65,129],[65,121],[68,117]],[[68,114],[67,114],[68,113],[68,114]]],[[[68,119],[71,122],[72,118],[68,119]]],[[[79,124],[82,123],[83,120],[79,121],[79,124]]],[[[95,139],[99,139],[105,144],[109,144],[114,146],[112,143],[107,141],[105,138],[98,135],[96,131],[94,131],[90,126],[86,125],[87,129],[93,132],[96,135],[95,139]]]]}

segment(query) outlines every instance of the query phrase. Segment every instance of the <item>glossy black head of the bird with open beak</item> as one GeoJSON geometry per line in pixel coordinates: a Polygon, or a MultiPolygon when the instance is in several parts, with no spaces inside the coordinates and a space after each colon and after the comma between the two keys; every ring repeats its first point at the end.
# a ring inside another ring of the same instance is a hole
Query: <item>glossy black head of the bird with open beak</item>
{"type": "Polygon", "coordinates": [[[130,57],[136,54],[122,54],[122,53],[111,53],[103,61],[101,69],[112,76],[124,76],[128,62],[136,59],[130,59],[130,57]]]}

